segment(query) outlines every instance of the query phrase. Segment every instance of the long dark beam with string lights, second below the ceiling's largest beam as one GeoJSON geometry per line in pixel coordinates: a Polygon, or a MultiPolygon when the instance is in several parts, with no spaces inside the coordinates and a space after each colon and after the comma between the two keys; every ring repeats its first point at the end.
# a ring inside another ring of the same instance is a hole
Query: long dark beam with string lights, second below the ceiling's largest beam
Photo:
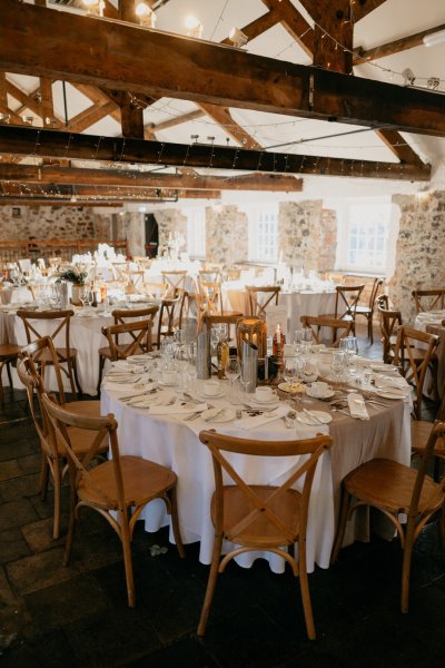
{"type": "MultiPolygon", "coordinates": [[[[352,78],[352,77],[348,77],[352,78]]],[[[121,165],[145,164],[201,167],[274,174],[320,174],[428,180],[428,165],[404,165],[325,158],[202,144],[167,144],[97,135],[75,135],[58,130],[0,126],[0,154],[97,160],[121,165]]]]}

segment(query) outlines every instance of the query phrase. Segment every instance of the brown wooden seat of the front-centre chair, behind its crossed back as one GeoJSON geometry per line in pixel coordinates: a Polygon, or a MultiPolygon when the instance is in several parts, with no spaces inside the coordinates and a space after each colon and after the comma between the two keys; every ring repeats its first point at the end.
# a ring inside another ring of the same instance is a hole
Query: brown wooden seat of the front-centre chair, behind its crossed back
{"type": "MultiPolygon", "coordinates": [[[[260,499],[267,499],[274,489],[267,485],[249,485],[250,490],[260,499]]],[[[243,518],[255,509],[255,505],[248,501],[246,494],[235,485],[225,485],[224,488],[224,533],[227,540],[230,540],[230,528],[237,524],[243,518]]],[[[300,515],[301,494],[297,490],[287,490],[280,494],[276,502],[268,503],[268,507],[279,517],[286,525],[291,539],[287,539],[283,531],[278,530],[264,512],[259,512],[255,520],[237,533],[237,544],[258,546],[258,548],[278,548],[283,544],[295,543],[298,539],[299,515],[300,515]]],[[[210,505],[211,521],[216,524],[216,501],[215,494],[210,505]]]]}

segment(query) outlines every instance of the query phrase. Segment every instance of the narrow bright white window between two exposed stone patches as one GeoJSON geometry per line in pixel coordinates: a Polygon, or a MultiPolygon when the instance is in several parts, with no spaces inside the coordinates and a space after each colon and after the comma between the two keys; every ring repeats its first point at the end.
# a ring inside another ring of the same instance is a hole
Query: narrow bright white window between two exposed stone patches
{"type": "Polygon", "coordinates": [[[278,258],[278,205],[247,209],[249,259],[273,263],[278,258]]]}

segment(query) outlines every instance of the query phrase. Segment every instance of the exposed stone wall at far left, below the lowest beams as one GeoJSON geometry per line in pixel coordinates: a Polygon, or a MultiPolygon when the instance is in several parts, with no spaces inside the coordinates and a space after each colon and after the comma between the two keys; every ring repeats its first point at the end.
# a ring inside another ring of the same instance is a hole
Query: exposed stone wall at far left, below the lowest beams
{"type": "Polygon", "coordinates": [[[89,207],[0,207],[0,240],[4,242],[91,238],[106,240],[110,238],[110,217],[96,214],[89,207]]]}

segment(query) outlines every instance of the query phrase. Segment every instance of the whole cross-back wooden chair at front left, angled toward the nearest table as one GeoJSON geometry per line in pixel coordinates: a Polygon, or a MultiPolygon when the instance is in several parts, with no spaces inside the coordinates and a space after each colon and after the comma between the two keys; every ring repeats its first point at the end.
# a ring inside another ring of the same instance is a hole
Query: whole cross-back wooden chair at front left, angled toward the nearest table
{"type": "Polygon", "coordinates": [[[80,418],[55,404],[47,394],[42,396],[42,405],[48,415],[49,438],[63,444],[70,472],[71,511],[63,564],[67,566],[70,560],[79,510],[82,508],[96,510],[109,522],[121,541],[128,605],[134,607],[136,596],[131,539],[141,511],[154,499],[161,499],[165,502],[171,515],[178,552],[180,557],[185,557],[176,505],[177,477],[166,466],[140,456],[122,456],[117,436],[118,424],[113,415],[80,418]],[[70,429],[93,436],[82,459],[76,453],[70,429]],[[105,439],[110,443],[112,459],[90,469],[89,464],[105,439]]]}

